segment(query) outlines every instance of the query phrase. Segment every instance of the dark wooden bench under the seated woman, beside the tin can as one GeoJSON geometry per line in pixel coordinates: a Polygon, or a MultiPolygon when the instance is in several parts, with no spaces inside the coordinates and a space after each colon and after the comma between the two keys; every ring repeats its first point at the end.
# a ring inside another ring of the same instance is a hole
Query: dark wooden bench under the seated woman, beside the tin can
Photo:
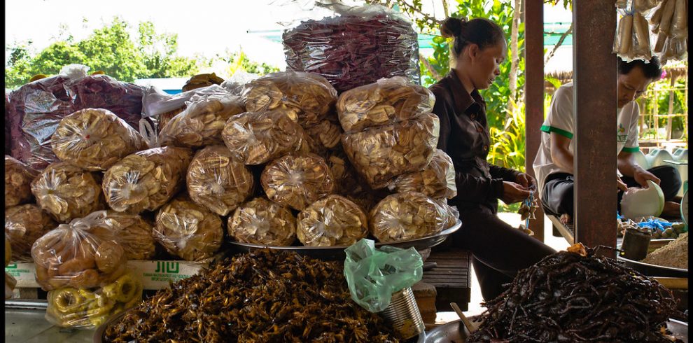
{"type": "Polygon", "coordinates": [[[436,267],[425,270],[421,281],[435,287],[437,311],[452,311],[451,302],[467,311],[472,295],[471,260],[469,251],[456,248],[434,248],[430,253],[426,262],[435,262],[436,267]]]}

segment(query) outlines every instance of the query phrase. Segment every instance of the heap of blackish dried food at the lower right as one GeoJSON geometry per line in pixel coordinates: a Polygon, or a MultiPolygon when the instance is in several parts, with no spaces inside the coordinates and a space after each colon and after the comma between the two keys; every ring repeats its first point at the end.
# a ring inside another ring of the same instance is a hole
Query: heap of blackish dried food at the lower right
{"type": "Polygon", "coordinates": [[[671,290],[594,252],[575,244],[521,271],[468,342],[672,342],[671,290]]]}

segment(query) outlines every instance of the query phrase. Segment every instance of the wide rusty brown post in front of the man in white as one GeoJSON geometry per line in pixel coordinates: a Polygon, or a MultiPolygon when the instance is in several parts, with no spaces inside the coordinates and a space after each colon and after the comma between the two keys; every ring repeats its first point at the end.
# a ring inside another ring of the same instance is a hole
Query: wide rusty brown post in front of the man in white
{"type": "MultiPolygon", "coordinates": [[[[613,1],[573,6],[575,240],[616,246],[616,32],[613,1]]],[[[602,249],[615,257],[613,251],[602,249]]]]}

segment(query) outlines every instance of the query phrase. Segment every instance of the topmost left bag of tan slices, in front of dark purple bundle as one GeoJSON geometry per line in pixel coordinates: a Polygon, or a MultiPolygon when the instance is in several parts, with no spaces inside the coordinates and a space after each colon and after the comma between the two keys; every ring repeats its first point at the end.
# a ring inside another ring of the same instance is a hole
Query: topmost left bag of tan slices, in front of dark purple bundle
{"type": "Polygon", "coordinates": [[[84,109],[62,118],[51,145],[61,161],[89,171],[109,169],[147,148],[139,132],[104,109],[84,109]]]}

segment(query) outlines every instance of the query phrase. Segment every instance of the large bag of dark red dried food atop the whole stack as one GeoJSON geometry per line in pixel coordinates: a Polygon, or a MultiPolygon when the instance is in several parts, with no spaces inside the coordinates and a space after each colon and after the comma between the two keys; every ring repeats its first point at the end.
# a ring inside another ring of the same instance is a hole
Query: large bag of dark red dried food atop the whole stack
{"type": "Polygon", "coordinates": [[[342,10],[307,20],[282,35],[287,69],[325,77],[338,92],[405,76],[419,81],[419,44],[412,23],[383,6],[342,10]]]}

